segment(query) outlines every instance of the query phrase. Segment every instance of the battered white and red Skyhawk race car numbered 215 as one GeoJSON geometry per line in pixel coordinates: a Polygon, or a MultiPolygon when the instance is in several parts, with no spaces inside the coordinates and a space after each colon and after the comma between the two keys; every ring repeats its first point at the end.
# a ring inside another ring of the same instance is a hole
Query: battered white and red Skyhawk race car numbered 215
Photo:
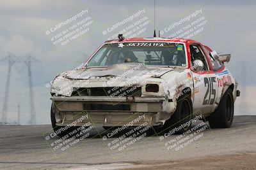
{"type": "Polygon", "coordinates": [[[231,126],[240,92],[224,65],[229,54],[192,39],[118,38],[52,81],[51,121],[59,136],[70,131],[63,127],[86,124],[179,126],[196,115],[212,128],[231,126]]]}

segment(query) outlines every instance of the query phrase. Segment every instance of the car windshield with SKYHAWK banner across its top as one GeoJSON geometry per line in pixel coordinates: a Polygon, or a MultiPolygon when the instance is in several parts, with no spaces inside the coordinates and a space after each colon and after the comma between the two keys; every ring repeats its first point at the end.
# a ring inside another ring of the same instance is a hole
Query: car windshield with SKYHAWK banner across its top
{"type": "Polygon", "coordinates": [[[122,62],[143,62],[145,66],[186,66],[181,43],[113,43],[103,45],[88,66],[109,66],[122,62]]]}

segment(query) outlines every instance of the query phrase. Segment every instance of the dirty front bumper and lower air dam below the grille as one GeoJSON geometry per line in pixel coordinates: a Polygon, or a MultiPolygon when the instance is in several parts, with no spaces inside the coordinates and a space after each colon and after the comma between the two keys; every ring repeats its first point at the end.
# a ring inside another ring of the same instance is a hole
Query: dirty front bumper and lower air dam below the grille
{"type": "Polygon", "coordinates": [[[163,125],[160,121],[163,111],[164,97],[108,97],[108,96],[71,96],[52,97],[60,121],[56,125],[65,126],[83,115],[88,119],[76,124],[122,126],[132,120],[143,117],[133,125],[147,122],[150,125],[163,125]]]}

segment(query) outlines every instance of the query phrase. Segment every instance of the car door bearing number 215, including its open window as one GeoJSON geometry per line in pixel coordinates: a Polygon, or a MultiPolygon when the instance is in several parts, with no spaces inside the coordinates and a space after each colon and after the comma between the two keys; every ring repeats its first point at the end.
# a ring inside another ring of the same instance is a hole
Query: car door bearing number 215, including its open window
{"type": "Polygon", "coordinates": [[[204,68],[202,71],[194,71],[191,74],[194,82],[194,102],[193,111],[197,114],[207,115],[211,113],[215,107],[216,97],[218,94],[218,81],[216,74],[212,71],[209,64],[208,55],[205,55],[200,44],[190,44],[191,62],[194,60],[202,60],[204,68]]]}

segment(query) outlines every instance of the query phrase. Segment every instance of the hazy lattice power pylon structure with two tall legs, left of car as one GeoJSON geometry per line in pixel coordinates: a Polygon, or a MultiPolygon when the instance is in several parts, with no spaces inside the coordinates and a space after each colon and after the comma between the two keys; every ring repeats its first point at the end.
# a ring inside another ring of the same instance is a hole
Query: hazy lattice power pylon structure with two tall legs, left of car
{"type": "Polygon", "coordinates": [[[4,104],[3,104],[3,111],[2,111],[2,123],[6,124],[6,115],[8,111],[8,95],[10,89],[10,77],[11,77],[11,69],[12,65],[15,62],[24,62],[28,67],[28,76],[29,76],[29,98],[30,98],[30,119],[29,124],[36,124],[36,114],[35,114],[35,104],[34,104],[34,93],[33,93],[33,86],[32,86],[32,76],[31,76],[31,62],[40,62],[40,60],[35,59],[35,57],[31,57],[29,53],[26,56],[17,57],[11,53],[9,53],[8,57],[4,57],[0,60],[0,62],[8,62],[8,74],[7,74],[7,81],[6,81],[6,90],[4,94],[4,104]]]}

